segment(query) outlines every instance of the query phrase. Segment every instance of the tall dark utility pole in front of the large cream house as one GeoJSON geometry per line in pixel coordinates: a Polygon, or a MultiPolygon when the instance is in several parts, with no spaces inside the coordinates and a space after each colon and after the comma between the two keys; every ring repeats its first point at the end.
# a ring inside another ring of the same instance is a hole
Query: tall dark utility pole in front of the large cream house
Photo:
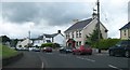
{"type": "MultiPolygon", "coordinates": [[[[98,31],[99,31],[99,33],[98,33],[98,37],[99,37],[98,41],[100,43],[100,40],[101,40],[101,30],[100,30],[100,1],[99,0],[98,0],[98,31]]],[[[100,48],[99,48],[99,53],[101,53],[100,48]]]]}

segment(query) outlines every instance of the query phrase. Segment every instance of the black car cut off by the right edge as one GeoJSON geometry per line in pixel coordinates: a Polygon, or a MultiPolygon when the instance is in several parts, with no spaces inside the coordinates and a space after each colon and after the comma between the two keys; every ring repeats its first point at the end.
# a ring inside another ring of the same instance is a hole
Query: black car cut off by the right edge
{"type": "Polygon", "coordinates": [[[126,56],[130,57],[130,40],[122,40],[116,45],[109,47],[109,56],[126,56]]]}

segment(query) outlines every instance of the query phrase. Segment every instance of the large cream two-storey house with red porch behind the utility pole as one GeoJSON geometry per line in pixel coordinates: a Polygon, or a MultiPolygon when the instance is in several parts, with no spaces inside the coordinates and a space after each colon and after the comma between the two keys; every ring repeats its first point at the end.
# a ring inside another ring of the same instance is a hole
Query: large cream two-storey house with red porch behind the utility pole
{"type": "MultiPolygon", "coordinates": [[[[87,40],[87,36],[93,32],[96,28],[98,15],[93,13],[92,18],[79,20],[65,30],[66,45],[77,47],[83,45],[87,40]]],[[[103,39],[107,39],[107,29],[100,23],[100,30],[103,39]]]]}

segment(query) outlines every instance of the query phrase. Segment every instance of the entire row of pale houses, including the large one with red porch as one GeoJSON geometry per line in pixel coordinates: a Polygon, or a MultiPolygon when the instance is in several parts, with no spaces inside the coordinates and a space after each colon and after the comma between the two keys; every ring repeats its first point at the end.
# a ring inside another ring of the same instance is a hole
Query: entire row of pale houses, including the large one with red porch
{"type": "MultiPolygon", "coordinates": [[[[34,45],[40,46],[42,43],[58,43],[64,46],[74,46],[77,47],[79,45],[83,45],[87,36],[93,32],[94,29],[96,29],[98,24],[98,15],[92,14],[92,18],[88,18],[84,20],[80,20],[72,25],[67,30],[64,31],[65,36],[61,33],[61,30],[57,31],[57,33],[53,34],[42,34],[38,37],[37,39],[32,40],[24,40],[18,42],[18,45],[25,46],[28,42],[31,42],[34,45]]],[[[105,26],[101,23],[100,24],[100,30],[102,33],[102,37],[104,39],[107,39],[107,29],[105,26]]]]}

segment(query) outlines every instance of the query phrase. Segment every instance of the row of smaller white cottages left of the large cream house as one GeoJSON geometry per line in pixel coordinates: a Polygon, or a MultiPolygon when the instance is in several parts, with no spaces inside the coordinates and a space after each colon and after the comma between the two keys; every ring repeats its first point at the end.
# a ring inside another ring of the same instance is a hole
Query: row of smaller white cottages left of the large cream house
{"type": "Polygon", "coordinates": [[[58,43],[62,46],[65,46],[65,37],[61,33],[61,30],[57,31],[57,33],[53,34],[46,34],[39,36],[38,38],[34,39],[24,39],[18,41],[16,44],[16,47],[25,47],[28,45],[28,43],[31,43],[32,46],[41,46],[43,43],[58,43]]]}

